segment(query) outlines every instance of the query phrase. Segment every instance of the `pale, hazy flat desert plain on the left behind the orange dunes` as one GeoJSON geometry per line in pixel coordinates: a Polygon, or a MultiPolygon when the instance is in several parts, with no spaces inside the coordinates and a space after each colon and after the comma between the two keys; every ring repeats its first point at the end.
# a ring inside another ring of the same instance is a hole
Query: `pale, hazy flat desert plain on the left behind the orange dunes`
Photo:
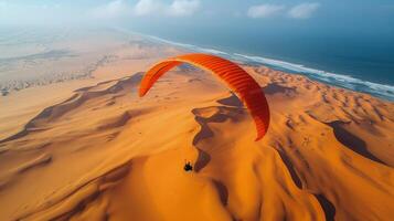
{"type": "Polygon", "coordinates": [[[129,76],[181,52],[136,34],[103,29],[25,30],[7,36],[0,44],[0,139],[18,133],[75,90],[129,76]]]}

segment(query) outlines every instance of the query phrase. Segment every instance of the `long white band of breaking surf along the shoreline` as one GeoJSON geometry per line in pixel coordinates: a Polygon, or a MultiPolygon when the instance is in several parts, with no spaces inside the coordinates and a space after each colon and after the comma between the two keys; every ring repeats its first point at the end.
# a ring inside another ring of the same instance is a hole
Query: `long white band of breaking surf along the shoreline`
{"type": "Polygon", "coordinates": [[[256,62],[259,64],[264,65],[269,65],[273,69],[279,69],[279,70],[285,70],[288,72],[292,73],[298,73],[298,74],[304,74],[307,76],[311,76],[316,80],[319,80],[321,82],[332,84],[336,86],[341,86],[344,88],[350,88],[352,91],[358,91],[358,92],[364,92],[369,93],[382,98],[391,99],[394,101],[394,86],[393,85],[385,85],[385,84],[379,84],[379,83],[373,83],[369,81],[362,81],[360,78],[355,78],[350,75],[345,74],[336,74],[336,73],[330,73],[330,72],[324,72],[321,70],[312,69],[305,66],[302,64],[295,64],[290,62],[285,62],[280,60],[273,60],[273,59],[267,59],[267,57],[262,57],[262,56],[251,56],[251,55],[245,55],[245,54],[238,54],[238,53],[227,53],[223,52],[220,50],[215,49],[205,49],[205,48],[200,48],[193,44],[185,44],[185,43],[179,43],[179,42],[173,42],[169,41],[166,39],[161,39],[158,36],[152,36],[152,35],[145,35],[148,36],[152,40],[180,46],[190,51],[194,52],[205,52],[210,54],[217,54],[217,55],[223,55],[226,57],[230,57],[235,61],[241,61],[241,62],[256,62]]]}

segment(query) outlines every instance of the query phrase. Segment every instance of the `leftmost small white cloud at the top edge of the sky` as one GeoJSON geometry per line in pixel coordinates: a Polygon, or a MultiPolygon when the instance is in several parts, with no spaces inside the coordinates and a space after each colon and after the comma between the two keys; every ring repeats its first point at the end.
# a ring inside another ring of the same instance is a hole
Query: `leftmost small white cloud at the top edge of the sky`
{"type": "Polygon", "coordinates": [[[90,11],[90,15],[99,19],[115,19],[130,14],[130,7],[125,0],[114,0],[90,11]]]}

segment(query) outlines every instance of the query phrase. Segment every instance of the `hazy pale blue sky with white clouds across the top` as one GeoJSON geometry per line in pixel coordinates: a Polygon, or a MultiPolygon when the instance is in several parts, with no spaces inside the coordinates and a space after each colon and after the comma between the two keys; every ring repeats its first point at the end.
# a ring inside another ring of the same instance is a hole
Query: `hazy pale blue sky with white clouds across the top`
{"type": "Polygon", "coordinates": [[[0,0],[0,25],[66,24],[129,25],[148,32],[255,28],[393,35],[394,1],[0,0]]]}

